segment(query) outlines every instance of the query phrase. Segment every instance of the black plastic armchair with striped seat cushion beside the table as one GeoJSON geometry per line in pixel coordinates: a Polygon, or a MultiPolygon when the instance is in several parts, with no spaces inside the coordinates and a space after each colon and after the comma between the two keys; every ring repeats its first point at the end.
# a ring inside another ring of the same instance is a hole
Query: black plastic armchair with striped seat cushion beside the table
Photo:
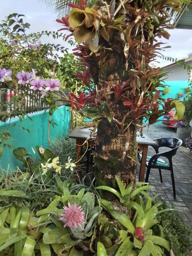
{"type": "MultiPolygon", "coordinates": [[[[152,157],[147,156],[147,162],[146,162],[147,173],[146,173],[146,177],[145,177],[145,182],[148,182],[151,168],[159,169],[159,176],[160,176],[161,183],[163,183],[161,169],[169,170],[171,172],[173,196],[176,198],[172,157],[176,154],[177,149],[181,146],[182,140],[177,139],[177,138],[161,138],[161,139],[156,139],[154,141],[157,143],[157,145],[150,145],[150,146],[152,146],[155,149],[156,155],[154,155],[152,157]],[[159,153],[160,147],[171,148],[171,150],[163,152],[163,153],[159,153]],[[165,162],[160,157],[167,158],[168,163],[165,162]]],[[[141,160],[141,154],[138,154],[138,158],[139,158],[139,160],[141,160]]]]}

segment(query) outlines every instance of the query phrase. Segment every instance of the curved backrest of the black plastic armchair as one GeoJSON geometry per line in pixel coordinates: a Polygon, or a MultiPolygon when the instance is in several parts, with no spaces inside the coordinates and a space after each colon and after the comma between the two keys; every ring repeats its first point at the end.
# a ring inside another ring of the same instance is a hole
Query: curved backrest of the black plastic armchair
{"type": "MultiPolygon", "coordinates": [[[[177,149],[182,145],[182,140],[178,139],[178,138],[160,138],[160,139],[156,139],[154,140],[157,143],[156,148],[160,148],[160,147],[167,147],[167,148],[171,148],[172,150],[167,151],[167,153],[170,156],[174,156],[177,152],[177,149]]],[[[155,148],[155,147],[154,147],[155,148]]]]}

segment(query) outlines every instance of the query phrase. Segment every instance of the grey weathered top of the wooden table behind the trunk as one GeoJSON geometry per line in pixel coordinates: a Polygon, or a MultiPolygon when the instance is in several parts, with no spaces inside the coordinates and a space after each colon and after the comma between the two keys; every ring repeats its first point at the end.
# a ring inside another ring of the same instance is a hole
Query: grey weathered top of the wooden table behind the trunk
{"type": "MultiPolygon", "coordinates": [[[[74,139],[85,139],[90,135],[91,129],[93,128],[82,128],[82,126],[76,126],[72,133],[69,135],[69,138],[74,139]]],[[[95,140],[95,137],[92,137],[91,140],[95,140]]],[[[138,144],[144,145],[155,145],[156,142],[149,138],[147,135],[143,134],[143,137],[136,137],[138,144]]]]}

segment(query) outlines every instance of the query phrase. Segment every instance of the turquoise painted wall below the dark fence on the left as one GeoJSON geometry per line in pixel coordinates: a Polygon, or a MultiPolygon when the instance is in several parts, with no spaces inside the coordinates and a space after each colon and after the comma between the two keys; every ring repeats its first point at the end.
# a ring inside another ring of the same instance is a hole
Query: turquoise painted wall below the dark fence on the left
{"type": "MultiPolygon", "coordinates": [[[[68,111],[68,109],[68,107],[64,106],[59,107],[52,115],[52,119],[58,124],[58,126],[53,128],[51,125],[50,138],[67,135],[70,123],[70,111],[68,111]]],[[[45,114],[43,112],[39,112],[29,114],[29,116],[33,121],[27,117],[25,117],[22,122],[20,122],[18,118],[11,120],[9,133],[14,139],[12,142],[16,148],[25,147],[28,153],[33,153],[31,147],[35,149],[36,145],[42,145],[44,148],[49,147],[47,140],[49,113],[48,111],[45,114]],[[16,126],[13,127],[13,124],[16,124],[16,126]],[[30,133],[19,126],[29,129],[30,133]]],[[[0,132],[6,129],[7,125],[7,122],[0,122],[0,132]]],[[[10,151],[7,147],[3,150],[3,155],[0,157],[0,164],[3,169],[7,169],[8,164],[12,169],[16,169],[16,166],[19,168],[22,167],[22,163],[16,160],[13,156],[12,150],[10,151]]]]}

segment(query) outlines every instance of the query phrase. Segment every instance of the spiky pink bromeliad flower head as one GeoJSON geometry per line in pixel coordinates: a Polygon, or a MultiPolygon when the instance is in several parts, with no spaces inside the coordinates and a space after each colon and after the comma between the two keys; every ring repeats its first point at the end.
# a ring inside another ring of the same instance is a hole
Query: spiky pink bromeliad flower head
{"type": "Polygon", "coordinates": [[[64,228],[76,228],[77,226],[81,227],[81,223],[85,223],[85,213],[81,206],[77,207],[76,203],[71,206],[68,202],[68,207],[64,206],[63,209],[65,210],[65,213],[60,214],[61,218],[59,220],[65,222],[64,228]]]}

